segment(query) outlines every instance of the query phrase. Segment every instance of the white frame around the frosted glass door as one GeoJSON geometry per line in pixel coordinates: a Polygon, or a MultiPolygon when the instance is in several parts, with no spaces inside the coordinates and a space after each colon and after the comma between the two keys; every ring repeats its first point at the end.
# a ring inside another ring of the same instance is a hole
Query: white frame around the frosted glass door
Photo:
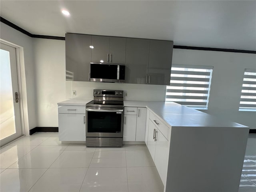
{"type": "Polygon", "coordinates": [[[24,106],[27,106],[26,102],[26,76],[25,76],[25,63],[24,63],[24,51],[23,48],[8,42],[6,40],[0,39],[0,43],[11,46],[15,48],[16,51],[16,63],[17,63],[17,76],[18,76],[18,94],[19,94],[19,104],[20,104],[20,120],[21,120],[21,134],[29,135],[28,127],[28,110],[24,110],[24,106]],[[26,125],[26,126],[25,126],[26,125]]]}

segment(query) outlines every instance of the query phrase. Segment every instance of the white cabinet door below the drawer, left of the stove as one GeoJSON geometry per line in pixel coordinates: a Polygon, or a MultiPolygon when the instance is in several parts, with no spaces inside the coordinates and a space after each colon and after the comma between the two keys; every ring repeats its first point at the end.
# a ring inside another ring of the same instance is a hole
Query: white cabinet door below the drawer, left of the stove
{"type": "Polygon", "coordinates": [[[85,141],[85,114],[58,114],[60,141],[85,141]]]}

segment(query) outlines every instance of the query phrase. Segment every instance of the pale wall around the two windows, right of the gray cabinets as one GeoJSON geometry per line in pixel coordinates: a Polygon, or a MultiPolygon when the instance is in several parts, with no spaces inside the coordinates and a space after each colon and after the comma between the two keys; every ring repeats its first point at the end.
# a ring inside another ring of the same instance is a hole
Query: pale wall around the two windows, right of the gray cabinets
{"type": "Polygon", "coordinates": [[[256,129],[256,112],[238,111],[245,68],[256,69],[256,54],[174,49],[172,64],[213,66],[208,114],[256,129]]]}

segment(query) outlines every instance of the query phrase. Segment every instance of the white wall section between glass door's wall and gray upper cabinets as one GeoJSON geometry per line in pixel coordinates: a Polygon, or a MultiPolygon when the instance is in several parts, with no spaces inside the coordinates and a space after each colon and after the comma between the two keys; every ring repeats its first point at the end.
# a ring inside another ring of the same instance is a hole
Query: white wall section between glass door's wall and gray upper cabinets
{"type": "Polygon", "coordinates": [[[34,38],[39,127],[58,127],[57,103],[66,100],[65,41],[34,38]]]}

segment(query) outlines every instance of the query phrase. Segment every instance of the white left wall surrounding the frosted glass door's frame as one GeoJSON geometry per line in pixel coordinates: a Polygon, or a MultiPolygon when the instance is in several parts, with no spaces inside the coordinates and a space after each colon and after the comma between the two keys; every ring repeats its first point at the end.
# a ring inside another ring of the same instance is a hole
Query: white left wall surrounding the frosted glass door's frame
{"type": "Polygon", "coordinates": [[[22,82],[22,90],[25,90],[22,95],[25,131],[28,134],[28,130],[37,126],[33,39],[2,22],[0,22],[0,38],[22,47],[24,51],[24,62],[21,63],[21,70],[26,78],[22,78],[24,81],[22,82]]]}

